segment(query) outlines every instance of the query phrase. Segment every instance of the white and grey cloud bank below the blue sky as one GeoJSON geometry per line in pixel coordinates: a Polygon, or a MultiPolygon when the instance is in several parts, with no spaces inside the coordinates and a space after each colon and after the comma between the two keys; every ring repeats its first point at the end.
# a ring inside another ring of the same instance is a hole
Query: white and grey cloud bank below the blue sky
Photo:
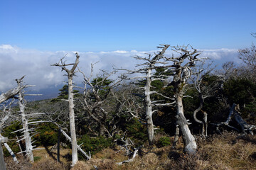
{"type": "MultiPolygon", "coordinates": [[[[240,62],[237,57],[236,49],[215,49],[215,50],[201,50],[201,57],[209,57],[216,64],[222,64],[227,61],[240,62]]],[[[153,51],[151,51],[153,52],[153,51]]],[[[80,64],[78,67],[90,74],[90,64],[95,64],[95,72],[99,69],[111,70],[112,66],[116,68],[132,69],[137,60],[132,56],[144,55],[146,52],[139,52],[137,50],[124,51],[110,51],[110,52],[78,52],[80,55],[80,64]]],[[[15,79],[26,75],[24,81],[26,84],[36,85],[34,90],[48,89],[55,86],[60,86],[67,77],[63,77],[65,72],[60,72],[60,67],[53,67],[54,64],[65,57],[66,63],[75,61],[75,52],[70,51],[38,51],[27,50],[11,45],[0,45],[0,94],[3,91],[16,86],[15,79]]],[[[171,55],[171,51],[166,52],[166,56],[171,55]]],[[[81,77],[75,77],[75,81],[80,83],[81,77]]]]}

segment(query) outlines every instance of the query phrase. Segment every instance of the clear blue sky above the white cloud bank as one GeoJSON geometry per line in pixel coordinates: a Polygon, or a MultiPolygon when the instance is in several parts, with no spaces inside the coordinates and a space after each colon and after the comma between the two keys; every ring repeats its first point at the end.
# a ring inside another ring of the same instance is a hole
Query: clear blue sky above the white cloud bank
{"type": "Polygon", "coordinates": [[[249,46],[255,0],[0,1],[0,44],[36,50],[152,50],[249,46]]]}

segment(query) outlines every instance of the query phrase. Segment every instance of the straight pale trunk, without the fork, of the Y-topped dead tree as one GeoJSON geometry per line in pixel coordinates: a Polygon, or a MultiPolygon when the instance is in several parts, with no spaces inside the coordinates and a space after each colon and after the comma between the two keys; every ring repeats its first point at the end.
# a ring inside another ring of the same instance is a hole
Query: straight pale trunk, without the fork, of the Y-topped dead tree
{"type": "Polygon", "coordinates": [[[72,166],[74,166],[78,162],[78,147],[75,134],[75,113],[73,95],[73,73],[70,73],[68,74],[68,103],[70,119],[70,136],[72,145],[72,166]]]}

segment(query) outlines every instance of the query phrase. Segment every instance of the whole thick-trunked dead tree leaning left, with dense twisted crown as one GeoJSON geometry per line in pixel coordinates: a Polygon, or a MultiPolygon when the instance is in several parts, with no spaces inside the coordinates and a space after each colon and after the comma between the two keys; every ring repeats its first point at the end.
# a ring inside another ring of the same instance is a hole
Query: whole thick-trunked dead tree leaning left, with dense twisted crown
{"type": "Polygon", "coordinates": [[[201,60],[197,58],[200,53],[192,47],[191,50],[188,50],[188,46],[176,46],[172,47],[172,50],[178,53],[178,57],[173,55],[172,57],[166,58],[166,60],[173,62],[169,72],[173,75],[173,80],[170,85],[174,86],[176,121],[183,135],[185,152],[194,153],[197,148],[196,140],[188,128],[188,125],[191,123],[188,123],[188,120],[185,118],[182,99],[186,92],[187,80],[192,75],[191,67],[195,67],[196,62],[201,60]]]}

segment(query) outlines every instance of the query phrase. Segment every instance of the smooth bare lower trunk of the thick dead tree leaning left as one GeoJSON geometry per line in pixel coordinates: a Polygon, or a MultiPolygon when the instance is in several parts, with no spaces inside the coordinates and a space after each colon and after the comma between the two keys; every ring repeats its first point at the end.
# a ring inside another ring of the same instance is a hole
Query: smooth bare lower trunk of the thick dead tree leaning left
{"type": "Polygon", "coordinates": [[[178,120],[178,125],[181,128],[181,132],[182,132],[183,139],[185,142],[185,152],[195,153],[196,148],[197,148],[196,140],[188,128],[188,121],[186,120],[186,118],[184,116],[183,103],[182,103],[181,96],[176,97],[176,107],[177,107],[177,115],[176,116],[177,116],[177,120],[178,120]]]}

